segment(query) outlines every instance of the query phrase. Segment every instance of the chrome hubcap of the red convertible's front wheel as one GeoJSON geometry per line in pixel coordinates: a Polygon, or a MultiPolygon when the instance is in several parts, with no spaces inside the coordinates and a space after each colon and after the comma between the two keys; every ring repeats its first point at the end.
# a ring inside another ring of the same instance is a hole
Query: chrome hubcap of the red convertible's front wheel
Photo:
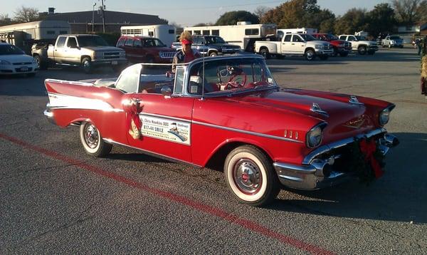
{"type": "Polygon", "coordinates": [[[233,168],[234,182],[245,194],[256,194],[261,187],[262,175],[258,166],[249,159],[241,159],[233,168]]]}

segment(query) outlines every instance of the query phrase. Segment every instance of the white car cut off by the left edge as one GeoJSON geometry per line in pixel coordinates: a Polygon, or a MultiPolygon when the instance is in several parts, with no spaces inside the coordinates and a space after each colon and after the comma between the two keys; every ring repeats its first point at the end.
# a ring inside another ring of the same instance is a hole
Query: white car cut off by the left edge
{"type": "Polygon", "coordinates": [[[32,56],[10,43],[0,43],[0,75],[35,76],[37,71],[38,64],[32,56]]]}

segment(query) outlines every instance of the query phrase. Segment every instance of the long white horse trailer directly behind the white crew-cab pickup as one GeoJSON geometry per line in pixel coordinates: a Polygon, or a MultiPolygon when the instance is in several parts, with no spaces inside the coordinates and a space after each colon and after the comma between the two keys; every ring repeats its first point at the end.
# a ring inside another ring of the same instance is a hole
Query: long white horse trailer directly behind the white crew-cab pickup
{"type": "Polygon", "coordinates": [[[255,41],[265,41],[277,36],[276,24],[250,24],[238,22],[231,26],[191,26],[185,27],[193,35],[221,36],[225,41],[240,46],[244,51],[253,51],[255,41]]]}

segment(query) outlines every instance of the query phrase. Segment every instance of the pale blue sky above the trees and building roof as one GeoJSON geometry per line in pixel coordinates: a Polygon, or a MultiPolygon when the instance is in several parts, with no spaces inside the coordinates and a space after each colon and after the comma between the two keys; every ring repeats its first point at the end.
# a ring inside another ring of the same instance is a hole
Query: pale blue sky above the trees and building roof
{"type": "MultiPolygon", "coordinates": [[[[56,12],[91,11],[93,3],[100,6],[100,0],[0,0],[0,14],[14,16],[14,11],[20,6],[37,8],[38,11],[47,11],[48,7],[56,8],[56,12]]],[[[169,22],[175,22],[184,26],[192,26],[197,23],[215,22],[226,11],[253,11],[258,6],[275,7],[285,1],[273,0],[105,0],[105,6],[110,11],[125,11],[139,14],[158,15],[169,22]]],[[[334,14],[344,14],[348,9],[366,8],[372,9],[376,4],[389,2],[387,0],[318,0],[317,4],[322,9],[330,9],[334,14]]]]}

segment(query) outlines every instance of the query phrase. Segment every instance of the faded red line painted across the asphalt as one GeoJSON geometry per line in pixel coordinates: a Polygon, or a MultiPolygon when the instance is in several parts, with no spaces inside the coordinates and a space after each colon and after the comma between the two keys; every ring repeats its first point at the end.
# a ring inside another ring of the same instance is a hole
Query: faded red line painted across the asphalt
{"type": "Polygon", "coordinates": [[[196,201],[188,199],[186,197],[182,197],[178,194],[174,194],[171,192],[166,192],[166,191],[161,190],[161,189],[155,189],[155,188],[149,187],[149,186],[142,184],[140,182],[135,182],[132,179],[128,179],[127,177],[123,177],[121,175],[116,175],[112,172],[107,172],[105,170],[102,170],[99,167],[95,167],[93,165],[88,165],[85,162],[75,160],[72,157],[67,157],[65,155],[61,155],[58,152],[54,152],[52,150],[47,150],[43,147],[38,147],[36,145],[31,145],[28,142],[24,142],[24,141],[19,140],[15,137],[10,137],[9,135],[4,135],[4,134],[0,133],[0,137],[3,138],[4,140],[14,142],[16,145],[20,145],[20,146],[25,147],[29,150],[39,152],[39,153],[46,155],[48,157],[53,157],[56,160],[60,160],[63,162],[67,162],[67,163],[76,165],[80,168],[83,168],[84,170],[88,170],[88,171],[93,172],[97,175],[101,175],[103,177],[107,177],[110,179],[115,179],[117,182],[122,182],[124,184],[127,184],[130,187],[135,187],[135,188],[141,189],[145,192],[155,194],[159,197],[164,197],[164,198],[167,198],[167,199],[172,200],[174,202],[177,202],[180,204],[185,204],[189,207],[192,207],[194,209],[199,210],[200,212],[205,212],[206,214],[211,214],[211,215],[214,215],[216,217],[220,217],[220,218],[226,220],[227,222],[230,222],[232,224],[236,224],[236,225],[244,227],[246,229],[250,229],[252,231],[258,232],[259,234],[263,234],[263,235],[268,236],[270,238],[277,239],[278,241],[282,241],[283,243],[288,244],[290,246],[293,246],[297,249],[308,251],[311,254],[334,254],[332,251],[327,251],[327,250],[322,249],[322,248],[315,246],[313,244],[308,244],[304,241],[300,241],[298,239],[292,238],[291,236],[287,236],[285,234],[280,234],[280,233],[278,233],[272,229],[268,229],[267,227],[263,227],[262,225],[257,224],[256,222],[252,222],[248,219],[242,219],[242,218],[240,218],[234,214],[230,214],[230,213],[224,211],[223,209],[211,207],[207,204],[202,204],[200,202],[196,202],[196,201]]]}

